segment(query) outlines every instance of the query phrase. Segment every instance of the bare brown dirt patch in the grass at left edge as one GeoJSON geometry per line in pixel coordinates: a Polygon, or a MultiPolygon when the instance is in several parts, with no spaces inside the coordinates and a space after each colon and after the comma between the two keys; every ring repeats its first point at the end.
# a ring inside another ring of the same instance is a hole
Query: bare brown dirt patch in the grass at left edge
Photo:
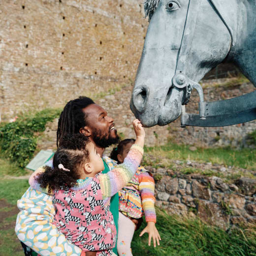
{"type": "Polygon", "coordinates": [[[7,230],[10,228],[15,227],[15,221],[13,222],[4,222],[4,220],[8,217],[12,217],[14,215],[17,215],[19,213],[19,209],[17,208],[17,206],[11,205],[8,202],[6,202],[4,199],[0,200],[0,227],[1,230],[7,230]],[[3,210],[3,208],[8,208],[7,211],[3,210]]]}

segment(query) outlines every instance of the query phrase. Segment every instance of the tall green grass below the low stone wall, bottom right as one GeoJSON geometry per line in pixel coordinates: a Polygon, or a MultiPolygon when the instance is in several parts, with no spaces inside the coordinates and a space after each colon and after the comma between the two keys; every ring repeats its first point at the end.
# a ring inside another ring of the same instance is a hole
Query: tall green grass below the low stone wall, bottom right
{"type": "Polygon", "coordinates": [[[132,241],[134,255],[147,256],[256,256],[256,229],[222,229],[203,224],[198,219],[181,219],[157,210],[157,228],[161,241],[154,248],[147,245],[148,237],[135,232],[132,241]]]}

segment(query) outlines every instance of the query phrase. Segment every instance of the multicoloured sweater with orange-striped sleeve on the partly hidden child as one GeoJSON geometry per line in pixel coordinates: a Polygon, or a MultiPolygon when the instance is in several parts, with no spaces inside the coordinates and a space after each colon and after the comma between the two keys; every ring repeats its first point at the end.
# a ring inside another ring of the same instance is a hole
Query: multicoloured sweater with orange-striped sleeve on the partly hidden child
{"type": "Polygon", "coordinates": [[[155,181],[152,174],[139,166],[128,185],[119,191],[119,211],[130,218],[145,214],[146,222],[157,222],[155,210],[155,181]]]}

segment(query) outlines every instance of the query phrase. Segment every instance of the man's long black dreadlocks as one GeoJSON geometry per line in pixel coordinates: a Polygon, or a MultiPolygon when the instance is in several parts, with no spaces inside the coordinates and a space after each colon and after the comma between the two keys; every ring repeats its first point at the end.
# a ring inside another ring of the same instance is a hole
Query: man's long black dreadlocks
{"type": "Polygon", "coordinates": [[[80,128],[87,125],[87,116],[82,109],[91,104],[95,104],[95,102],[85,96],[79,96],[79,98],[66,103],[58,122],[57,148],[62,145],[64,135],[79,133],[80,128]]]}

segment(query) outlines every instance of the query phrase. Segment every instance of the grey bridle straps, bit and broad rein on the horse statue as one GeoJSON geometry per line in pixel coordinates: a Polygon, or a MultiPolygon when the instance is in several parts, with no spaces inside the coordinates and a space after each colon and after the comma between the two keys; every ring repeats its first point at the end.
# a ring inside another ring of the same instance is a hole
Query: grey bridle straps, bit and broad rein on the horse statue
{"type": "MultiPolygon", "coordinates": [[[[172,78],[172,87],[185,89],[182,102],[181,127],[220,127],[252,121],[256,119],[256,91],[226,100],[205,102],[202,87],[186,75],[186,60],[189,58],[191,50],[190,45],[192,45],[193,40],[191,34],[193,35],[195,31],[201,1],[202,0],[189,0],[175,75],[172,78]],[[185,105],[189,102],[193,88],[195,88],[199,94],[199,115],[189,114],[185,111],[185,105]]],[[[231,37],[230,47],[226,57],[228,58],[229,55],[231,56],[234,46],[233,34],[214,1],[216,0],[209,0],[231,37]]]]}

